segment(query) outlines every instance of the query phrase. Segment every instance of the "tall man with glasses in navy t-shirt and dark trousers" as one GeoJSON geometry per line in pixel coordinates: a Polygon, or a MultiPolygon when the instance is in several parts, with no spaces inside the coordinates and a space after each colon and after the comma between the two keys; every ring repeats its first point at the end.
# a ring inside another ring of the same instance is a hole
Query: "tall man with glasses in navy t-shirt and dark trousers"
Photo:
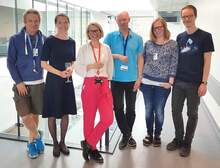
{"type": "Polygon", "coordinates": [[[177,36],[179,62],[176,81],[172,91],[172,116],[175,138],[167,145],[167,150],[180,148],[179,155],[187,157],[191,151],[198,121],[200,97],[207,91],[207,80],[214,51],[212,36],[196,27],[197,9],[187,5],[181,9],[181,17],[186,31],[177,36]],[[187,126],[184,134],[182,110],[187,100],[187,126]]]}

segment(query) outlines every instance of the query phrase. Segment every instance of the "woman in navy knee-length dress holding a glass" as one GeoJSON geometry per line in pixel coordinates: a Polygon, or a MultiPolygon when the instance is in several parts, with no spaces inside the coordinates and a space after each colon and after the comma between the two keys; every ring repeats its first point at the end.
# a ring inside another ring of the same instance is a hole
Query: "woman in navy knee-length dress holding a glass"
{"type": "Polygon", "coordinates": [[[43,46],[41,66],[48,71],[44,92],[44,118],[53,139],[53,155],[65,155],[69,150],[65,145],[68,128],[68,114],[76,114],[75,93],[72,82],[73,62],[75,61],[75,41],[68,36],[69,18],[58,14],[55,18],[57,33],[46,39],[43,46]],[[57,140],[56,119],[61,118],[61,139],[57,140]]]}

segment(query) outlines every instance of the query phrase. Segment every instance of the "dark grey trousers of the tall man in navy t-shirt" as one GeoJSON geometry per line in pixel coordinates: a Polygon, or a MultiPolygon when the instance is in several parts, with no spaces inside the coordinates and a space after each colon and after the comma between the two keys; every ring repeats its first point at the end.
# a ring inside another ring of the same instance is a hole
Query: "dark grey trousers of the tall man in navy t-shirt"
{"type": "Polygon", "coordinates": [[[198,85],[177,80],[172,91],[172,116],[175,127],[175,138],[185,145],[191,145],[198,122],[198,85]],[[184,101],[187,105],[187,124],[184,137],[182,110],[184,101]]]}

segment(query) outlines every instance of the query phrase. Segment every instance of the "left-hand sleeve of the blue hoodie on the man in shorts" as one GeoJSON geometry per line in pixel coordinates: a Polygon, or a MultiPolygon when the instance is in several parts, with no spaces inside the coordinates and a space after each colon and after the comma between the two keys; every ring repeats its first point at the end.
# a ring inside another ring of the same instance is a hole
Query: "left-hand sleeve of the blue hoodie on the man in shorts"
{"type": "Polygon", "coordinates": [[[7,67],[12,79],[16,84],[23,81],[16,67],[17,54],[17,49],[14,44],[14,37],[11,37],[8,46],[7,67]]]}

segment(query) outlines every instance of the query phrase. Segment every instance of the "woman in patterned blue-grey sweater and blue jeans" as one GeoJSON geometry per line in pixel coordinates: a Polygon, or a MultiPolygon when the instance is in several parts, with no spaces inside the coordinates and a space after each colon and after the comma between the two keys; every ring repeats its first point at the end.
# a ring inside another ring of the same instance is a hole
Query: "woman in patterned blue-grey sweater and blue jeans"
{"type": "Polygon", "coordinates": [[[164,107],[176,75],[177,43],[170,40],[164,19],[153,21],[150,40],[145,43],[141,91],[144,96],[147,136],[143,144],[160,146],[164,107]],[[155,127],[155,128],[154,128],[155,127]]]}

